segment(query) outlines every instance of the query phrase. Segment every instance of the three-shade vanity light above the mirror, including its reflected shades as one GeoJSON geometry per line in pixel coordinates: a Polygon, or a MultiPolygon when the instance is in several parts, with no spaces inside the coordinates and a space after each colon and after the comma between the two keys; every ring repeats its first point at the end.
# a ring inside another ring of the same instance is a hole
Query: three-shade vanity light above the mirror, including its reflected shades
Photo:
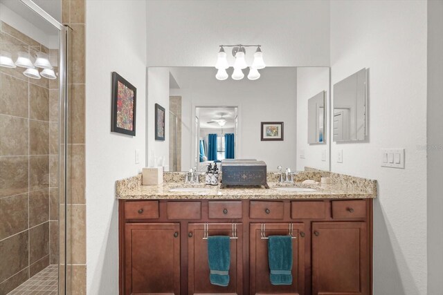
{"type": "Polygon", "coordinates": [[[217,74],[215,77],[219,80],[226,80],[228,78],[228,73],[226,73],[226,68],[229,68],[228,60],[226,59],[226,53],[224,51],[224,47],[232,47],[233,48],[233,57],[235,57],[235,62],[233,65],[234,72],[231,76],[234,80],[241,80],[244,78],[243,69],[247,68],[246,64],[246,47],[257,47],[254,53],[254,60],[252,65],[249,67],[248,79],[256,80],[260,78],[260,73],[258,70],[265,68],[266,64],[263,61],[263,53],[261,49],[261,45],[220,45],[219,53],[217,53],[217,63],[215,64],[215,68],[217,68],[217,74]]]}

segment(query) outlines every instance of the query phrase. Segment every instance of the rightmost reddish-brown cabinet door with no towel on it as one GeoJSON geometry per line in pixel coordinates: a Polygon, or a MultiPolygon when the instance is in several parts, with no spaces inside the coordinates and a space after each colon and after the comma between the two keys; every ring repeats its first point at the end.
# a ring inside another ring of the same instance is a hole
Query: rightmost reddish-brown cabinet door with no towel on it
{"type": "Polygon", "coordinates": [[[370,293],[368,231],[365,222],[314,222],[312,294],[370,293]]]}

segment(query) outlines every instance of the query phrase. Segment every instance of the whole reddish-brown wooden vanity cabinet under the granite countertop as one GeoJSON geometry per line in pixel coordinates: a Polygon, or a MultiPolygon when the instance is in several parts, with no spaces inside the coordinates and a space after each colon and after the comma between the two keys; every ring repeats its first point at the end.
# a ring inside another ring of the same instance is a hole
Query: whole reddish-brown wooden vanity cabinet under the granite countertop
{"type": "Polygon", "coordinates": [[[372,200],[120,200],[120,294],[372,294],[372,200]],[[230,240],[230,283],[210,284],[208,235],[230,240]],[[291,225],[293,283],[271,285],[264,236],[291,225]]]}

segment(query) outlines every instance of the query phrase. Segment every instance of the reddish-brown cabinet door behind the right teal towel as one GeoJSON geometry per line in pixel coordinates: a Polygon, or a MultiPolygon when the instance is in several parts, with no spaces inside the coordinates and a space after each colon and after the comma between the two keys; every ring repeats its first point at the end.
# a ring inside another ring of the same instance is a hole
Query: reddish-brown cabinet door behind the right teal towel
{"type": "MultiPolygon", "coordinates": [[[[269,280],[268,240],[262,239],[261,224],[250,227],[250,279],[251,294],[305,294],[305,238],[300,236],[305,225],[293,223],[292,240],[292,285],[272,285],[269,280]]],[[[284,236],[289,234],[289,223],[266,223],[264,234],[284,236]]]]}

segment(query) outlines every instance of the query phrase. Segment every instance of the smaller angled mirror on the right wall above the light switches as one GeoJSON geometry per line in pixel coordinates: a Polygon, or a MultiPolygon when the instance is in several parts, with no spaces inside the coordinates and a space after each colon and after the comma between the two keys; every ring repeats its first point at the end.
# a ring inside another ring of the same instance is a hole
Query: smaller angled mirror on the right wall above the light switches
{"type": "Polygon", "coordinates": [[[334,142],[361,141],[368,135],[367,70],[334,84],[334,142]]]}

